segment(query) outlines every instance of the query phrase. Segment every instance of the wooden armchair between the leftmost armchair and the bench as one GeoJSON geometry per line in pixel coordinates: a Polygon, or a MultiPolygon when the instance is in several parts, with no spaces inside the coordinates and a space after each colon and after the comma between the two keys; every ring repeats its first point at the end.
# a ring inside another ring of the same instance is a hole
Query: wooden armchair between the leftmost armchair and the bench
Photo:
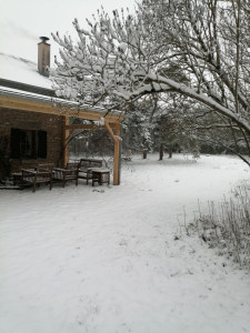
{"type": "Polygon", "coordinates": [[[53,180],[62,182],[62,188],[64,188],[67,181],[76,181],[76,186],[78,185],[78,174],[79,174],[79,163],[71,162],[68,163],[64,169],[54,168],[53,169],[53,180]]]}

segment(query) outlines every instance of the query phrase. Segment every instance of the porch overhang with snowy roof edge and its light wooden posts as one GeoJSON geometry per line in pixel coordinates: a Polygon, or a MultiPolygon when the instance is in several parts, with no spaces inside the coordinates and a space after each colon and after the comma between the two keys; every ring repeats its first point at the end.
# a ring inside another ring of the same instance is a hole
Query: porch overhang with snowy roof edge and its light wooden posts
{"type": "MultiPolygon", "coordinates": [[[[14,82],[16,83],[16,82],[14,82]]],[[[4,84],[6,85],[6,84],[4,84]]],[[[33,87],[32,87],[33,89],[33,87]]],[[[11,112],[26,112],[26,114],[43,114],[44,117],[60,117],[62,119],[61,138],[61,167],[69,162],[69,139],[76,130],[106,129],[113,142],[113,185],[120,183],[120,134],[122,112],[113,111],[107,113],[101,108],[91,108],[89,105],[79,107],[73,102],[59,100],[53,97],[53,91],[37,88],[37,91],[30,91],[28,84],[19,85],[19,90],[12,87],[0,88],[0,117],[3,111],[11,115],[11,112]],[[70,119],[78,118],[87,120],[89,123],[71,124],[70,119]]]]}

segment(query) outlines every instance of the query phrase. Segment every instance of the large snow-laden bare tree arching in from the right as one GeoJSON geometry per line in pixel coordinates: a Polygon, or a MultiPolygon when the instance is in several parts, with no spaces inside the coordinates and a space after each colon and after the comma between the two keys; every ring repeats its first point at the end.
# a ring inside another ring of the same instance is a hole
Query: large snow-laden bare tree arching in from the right
{"type": "Polygon", "coordinates": [[[51,71],[58,95],[108,112],[148,94],[182,94],[213,112],[210,125],[230,129],[250,157],[249,0],[144,0],[133,16],[101,10],[88,30],[73,24],[77,43],[53,34],[62,47],[51,71]]]}

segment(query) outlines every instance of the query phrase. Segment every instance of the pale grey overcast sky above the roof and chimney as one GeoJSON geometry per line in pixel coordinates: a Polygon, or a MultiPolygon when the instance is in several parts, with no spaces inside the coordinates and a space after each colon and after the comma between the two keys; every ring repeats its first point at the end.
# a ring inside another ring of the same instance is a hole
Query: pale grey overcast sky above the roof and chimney
{"type": "MultiPolygon", "coordinates": [[[[72,21],[86,18],[103,6],[106,11],[129,8],[136,0],[0,0],[0,53],[13,54],[37,62],[37,43],[40,36],[50,38],[52,57],[58,46],[51,32],[73,36],[72,21]]],[[[1,65],[1,64],[0,64],[1,65]]]]}

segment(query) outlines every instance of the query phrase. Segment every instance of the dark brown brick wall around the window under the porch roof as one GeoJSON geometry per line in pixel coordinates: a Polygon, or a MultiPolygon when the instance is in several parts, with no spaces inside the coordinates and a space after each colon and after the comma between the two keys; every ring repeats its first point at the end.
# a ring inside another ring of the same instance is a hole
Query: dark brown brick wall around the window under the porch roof
{"type": "Polygon", "coordinates": [[[61,165],[62,130],[63,117],[0,108],[0,179],[8,172],[33,168],[38,163],[48,162],[61,165]],[[41,160],[10,159],[11,128],[47,131],[47,158],[41,160]]]}

